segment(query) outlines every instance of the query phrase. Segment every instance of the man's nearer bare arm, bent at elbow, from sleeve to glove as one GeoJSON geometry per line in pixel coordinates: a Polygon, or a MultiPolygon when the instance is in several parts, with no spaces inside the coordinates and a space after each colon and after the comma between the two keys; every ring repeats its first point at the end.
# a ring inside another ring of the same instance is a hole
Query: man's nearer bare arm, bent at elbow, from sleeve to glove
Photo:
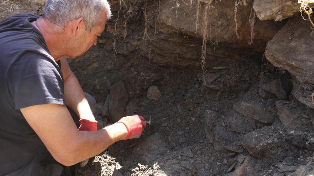
{"type": "Polygon", "coordinates": [[[20,110],[51,155],[66,166],[93,157],[127,137],[122,123],[95,132],[79,132],[64,105],[36,105],[20,110]]]}

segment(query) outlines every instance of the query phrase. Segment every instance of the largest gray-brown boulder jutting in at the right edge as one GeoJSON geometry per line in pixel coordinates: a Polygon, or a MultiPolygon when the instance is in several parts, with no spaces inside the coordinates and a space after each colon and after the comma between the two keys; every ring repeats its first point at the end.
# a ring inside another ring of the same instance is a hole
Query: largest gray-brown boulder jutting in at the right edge
{"type": "MultiPolygon", "coordinates": [[[[276,67],[283,67],[299,83],[314,83],[314,42],[310,37],[312,30],[309,23],[302,18],[290,18],[285,26],[268,42],[265,51],[266,58],[276,67]]],[[[300,86],[294,85],[295,97],[302,103],[311,104],[311,93],[303,94],[297,90],[300,86]]]]}

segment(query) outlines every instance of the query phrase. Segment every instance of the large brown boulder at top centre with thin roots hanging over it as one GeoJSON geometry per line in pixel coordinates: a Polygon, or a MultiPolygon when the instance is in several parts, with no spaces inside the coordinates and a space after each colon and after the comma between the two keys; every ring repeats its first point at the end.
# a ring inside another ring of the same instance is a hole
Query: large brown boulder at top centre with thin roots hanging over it
{"type": "MultiPolygon", "coordinates": [[[[201,1],[202,2],[202,1],[201,1]]],[[[237,6],[237,27],[241,31],[239,38],[236,36],[235,23],[235,2],[225,1],[205,1],[200,3],[198,1],[182,0],[177,8],[169,8],[175,5],[172,1],[163,1],[160,9],[161,30],[168,33],[169,29],[166,26],[180,30],[182,33],[189,34],[195,37],[203,37],[203,31],[208,30],[208,39],[217,42],[231,42],[236,43],[234,47],[250,47],[248,41],[251,37],[250,22],[248,17],[250,15],[255,17],[254,12],[251,14],[252,4],[247,1],[239,3],[237,6]],[[199,10],[197,9],[200,7],[199,10]],[[205,6],[209,6],[206,8],[205,6]],[[208,10],[208,16],[203,17],[208,10]],[[192,13],[186,13],[192,12],[192,13]],[[197,16],[197,12],[199,12],[197,16]],[[198,20],[195,20],[198,19],[198,20]],[[203,25],[203,21],[208,21],[207,28],[203,25]],[[244,29],[245,28],[245,29],[244,29]],[[239,42],[240,41],[240,42],[239,42]]],[[[254,31],[255,41],[262,41],[263,38],[272,38],[268,31],[275,32],[278,28],[269,26],[269,22],[255,21],[254,31]]],[[[257,42],[258,43],[258,42],[257,42]]],[[[255,45],[255,44],[253,44],[255,45]]]]}

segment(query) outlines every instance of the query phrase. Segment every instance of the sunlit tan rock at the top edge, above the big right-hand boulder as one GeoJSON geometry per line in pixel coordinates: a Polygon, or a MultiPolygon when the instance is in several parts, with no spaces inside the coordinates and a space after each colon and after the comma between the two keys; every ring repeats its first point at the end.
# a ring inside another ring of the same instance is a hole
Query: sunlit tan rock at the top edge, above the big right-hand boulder
{"type": "Polygon", "coordinates": [[[275,19],[281,21],[290,18],[300,11],[300,4],[297,1],[288,0],[255,0],[254,11],[260,20],[275,19]]]}

